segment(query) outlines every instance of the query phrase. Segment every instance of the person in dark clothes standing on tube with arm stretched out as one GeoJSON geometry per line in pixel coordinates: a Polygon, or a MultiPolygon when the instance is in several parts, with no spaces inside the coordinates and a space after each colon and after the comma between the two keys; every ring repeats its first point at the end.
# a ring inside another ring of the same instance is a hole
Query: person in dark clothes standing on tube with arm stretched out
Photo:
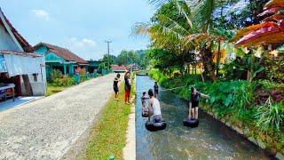
{"type": "Polygon", "coordinates": [[[198,119],[198,107],[199,107],[199,99],[200,96],[202,98],[209,98],[209,95],[203,94],[201,92],[197,92],[194,87],[192,87],[192,93],[190,95],[190,100],[189,100],[189,114],[188,118],[195,118],[198,119]]]}

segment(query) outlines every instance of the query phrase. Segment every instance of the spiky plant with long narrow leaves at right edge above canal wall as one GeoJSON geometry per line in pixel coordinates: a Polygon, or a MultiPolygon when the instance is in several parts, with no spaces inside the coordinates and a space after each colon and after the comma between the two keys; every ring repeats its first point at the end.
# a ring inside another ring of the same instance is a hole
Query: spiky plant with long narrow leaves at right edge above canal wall
{"type": "Polygon", "coordinates": [[[257,109],[255,114],[256,125],[261,131],[275,130],[280,132],[280,122],[284,119],[283,104],[273,103],[272,99],[266,100],[263,106],[257,109]]]}

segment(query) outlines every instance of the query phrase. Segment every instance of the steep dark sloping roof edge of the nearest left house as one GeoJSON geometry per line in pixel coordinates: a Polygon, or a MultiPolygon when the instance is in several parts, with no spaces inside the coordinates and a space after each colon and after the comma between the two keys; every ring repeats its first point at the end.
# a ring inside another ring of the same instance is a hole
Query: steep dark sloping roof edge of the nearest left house
{"type": "MultiPolygon", "coordinates": [[[[1,8],[0,8],[0,12],[2,12],[1,8]]],[[[4,15],[4,12],[2,12],[2,14],[4,15]]],[[[28,44],[27,40],[23,36],[20,36],[20,33],[15,28],[12,27],[11,22],[6,18],[5,15],[4,15],[4,19],[6,20],[7,24],[9,25],[12,31],[12,34],[16,37],[16,39],[20,43],[23,50],[25,52],[34,52],[34,48],[30,44],[28,44]]],[[[4,22],[1,19],[0,19],[0,24],[4,26],[4,22]]],[[[5,28],[5,31],[8,33],[7,28],[5,28]]]]}

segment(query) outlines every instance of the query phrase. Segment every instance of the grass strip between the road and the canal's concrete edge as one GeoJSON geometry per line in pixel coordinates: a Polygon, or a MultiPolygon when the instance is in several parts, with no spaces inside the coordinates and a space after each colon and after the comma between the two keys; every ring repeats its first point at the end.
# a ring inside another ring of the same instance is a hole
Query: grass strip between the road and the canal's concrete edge
{"type": "MultiPolygon", "coordinates": [[[[101,111],[99,120],[87,139],[83,159],[108,159],[109,156],[122,159],[130,115],[130,105],[124,104],[123,86],[123,84],[120,85],[120,101],[112,97],[101,111]]],[[[132,90],[131,95],[133,93],[132,90]]]]}

